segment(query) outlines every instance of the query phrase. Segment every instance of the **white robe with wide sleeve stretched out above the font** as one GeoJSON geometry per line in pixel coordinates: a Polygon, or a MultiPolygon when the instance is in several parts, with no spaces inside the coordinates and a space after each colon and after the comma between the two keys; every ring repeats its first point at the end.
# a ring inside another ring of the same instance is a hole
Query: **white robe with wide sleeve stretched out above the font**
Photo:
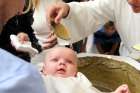
{"type": "Polygon", "coordinates": [[[69,5],[70,12],[63,23],[71,31],[70,42],[93,34],[101,24],[112,20],[123,42],[120,54],[136,59],[140,57],[140,52],[132,48],[140,44],[140,13],[134,13],[127,0],[95,0],[69,5]]]}

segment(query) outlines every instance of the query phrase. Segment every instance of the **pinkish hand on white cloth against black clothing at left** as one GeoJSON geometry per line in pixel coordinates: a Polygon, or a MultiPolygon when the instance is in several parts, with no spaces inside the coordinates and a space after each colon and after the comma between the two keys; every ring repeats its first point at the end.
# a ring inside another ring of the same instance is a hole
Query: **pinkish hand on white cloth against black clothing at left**
{"type": "Polygon", "coordinates": [[[20,32],[17,34],[17,37],[19,38],[20,43],[24,44],[27,41],[29,41],[29,37],[26,33],[20,32]]]}

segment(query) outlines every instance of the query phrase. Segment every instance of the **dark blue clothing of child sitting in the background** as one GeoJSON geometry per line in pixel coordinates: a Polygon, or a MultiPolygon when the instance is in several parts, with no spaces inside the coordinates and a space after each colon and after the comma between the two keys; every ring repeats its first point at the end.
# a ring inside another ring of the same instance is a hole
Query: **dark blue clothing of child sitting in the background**
{"type": "MultiPolygon", "coordinates": [[[[115,43],[120,44],[120,42],[121,39],[117,32],[114,32],[110,36],[107,35],[104,31],[100,31],[100,30],[94,33],[94,43],[95,44],[100,43],[104,53],[109,52],[115,43]]],[[[116,50],[115,54],[118,54],[118,49],[116,50]]]]}

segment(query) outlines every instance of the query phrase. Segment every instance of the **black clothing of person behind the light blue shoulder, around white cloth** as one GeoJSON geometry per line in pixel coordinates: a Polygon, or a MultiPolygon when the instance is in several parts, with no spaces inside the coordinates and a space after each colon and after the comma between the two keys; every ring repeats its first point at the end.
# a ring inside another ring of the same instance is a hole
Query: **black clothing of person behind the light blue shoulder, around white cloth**
{"type": "Polygon", "coordinates": [[[33,11],[29,11],[26,14],[16,15],[12,17],[3,27],[3,31],[0,34],[0,48],[3,48],[26,61],[30,61],[30,56],[28,53],[18,52],[11,45],[10,35],[11,34],[17,35],[19,32],[27,33],[32,43],[32,46],[40,52],[41,46],[38,44],[38,40],[34,35],[34,31],[31,27],[32,23],[33,23],[33,11]]]}

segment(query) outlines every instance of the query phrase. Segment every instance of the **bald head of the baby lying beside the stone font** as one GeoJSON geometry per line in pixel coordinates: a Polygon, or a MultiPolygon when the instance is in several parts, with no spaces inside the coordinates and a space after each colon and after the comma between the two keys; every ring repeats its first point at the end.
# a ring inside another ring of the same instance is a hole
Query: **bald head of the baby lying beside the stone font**
{"type": "Polygon", "coordinates": [[[43,65],[43,74],[58,77],[71,77],[77,74],[77,55],[65,47],[50,49],[43,65]]]}

